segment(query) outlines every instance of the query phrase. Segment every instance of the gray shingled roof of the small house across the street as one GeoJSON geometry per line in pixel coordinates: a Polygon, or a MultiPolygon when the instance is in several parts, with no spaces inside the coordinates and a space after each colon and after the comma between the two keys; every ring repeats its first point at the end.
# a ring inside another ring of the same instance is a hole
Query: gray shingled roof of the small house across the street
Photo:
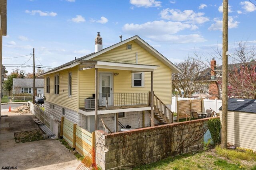
{"type": "MultiPolygon", "coordinates": [[[[33,78],[13,78],[13,87],[33,87],[33,78]]],[[[36,78],[35,87],[44,87],[44,79],[36,78]]]]}

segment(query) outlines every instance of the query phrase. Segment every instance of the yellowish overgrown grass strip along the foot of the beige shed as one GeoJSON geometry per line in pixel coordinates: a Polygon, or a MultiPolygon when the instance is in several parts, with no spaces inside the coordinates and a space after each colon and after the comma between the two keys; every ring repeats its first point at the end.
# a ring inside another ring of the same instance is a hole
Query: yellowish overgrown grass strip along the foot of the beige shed
{"type": "Polygon", "coordinates": [[[250,149],[222,149],[220,146],[216,146],[216,153],[220,156],[230,160],[254,160],[256,161],[256,153],[250,149]]]}

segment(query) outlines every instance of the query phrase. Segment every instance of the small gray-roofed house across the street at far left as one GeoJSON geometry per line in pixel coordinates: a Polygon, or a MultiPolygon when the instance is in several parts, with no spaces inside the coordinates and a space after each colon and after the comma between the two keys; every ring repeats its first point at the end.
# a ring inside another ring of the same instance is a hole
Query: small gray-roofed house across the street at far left
{"type": "MultiPolygon", "coordinates": [[[[12,93],[33,94],[33,78],[13,78],[12,93]]],[[[35,79],[35,96],[44,96],[44,79],[35,79]]]]}

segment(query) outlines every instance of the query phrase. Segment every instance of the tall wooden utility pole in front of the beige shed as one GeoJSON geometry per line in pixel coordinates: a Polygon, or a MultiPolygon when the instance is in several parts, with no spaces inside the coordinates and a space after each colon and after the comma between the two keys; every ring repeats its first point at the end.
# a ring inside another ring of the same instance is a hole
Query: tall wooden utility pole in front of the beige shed
{"type": "Polygon", "coordinates": [[[221,147],[228,145],[228,0],[223,0],[221,147]]]}

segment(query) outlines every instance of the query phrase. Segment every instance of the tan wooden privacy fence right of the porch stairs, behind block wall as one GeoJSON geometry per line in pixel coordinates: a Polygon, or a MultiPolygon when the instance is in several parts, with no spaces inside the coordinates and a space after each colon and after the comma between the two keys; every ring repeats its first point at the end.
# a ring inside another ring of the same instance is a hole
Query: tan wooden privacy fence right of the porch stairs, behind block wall
{"type": "Polygon", "coordinates": [[[177,121],[179,121],[179,119],[184,119],[187,116],[190,117],[190,109],[194,109],[195,112],[202,112],[202,100],[196,99],[178,101],[177,98],[177,121]]]}

